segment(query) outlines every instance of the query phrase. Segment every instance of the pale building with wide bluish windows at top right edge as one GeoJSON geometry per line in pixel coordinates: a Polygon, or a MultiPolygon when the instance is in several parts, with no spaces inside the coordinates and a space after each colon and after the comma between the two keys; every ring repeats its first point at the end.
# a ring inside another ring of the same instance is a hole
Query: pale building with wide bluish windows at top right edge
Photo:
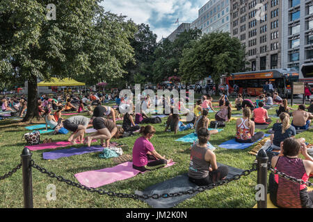
{"type": "Polygon", "coordinates": [[[282,67],[313,62],[313,1],[282,1],[282,67]]]}

